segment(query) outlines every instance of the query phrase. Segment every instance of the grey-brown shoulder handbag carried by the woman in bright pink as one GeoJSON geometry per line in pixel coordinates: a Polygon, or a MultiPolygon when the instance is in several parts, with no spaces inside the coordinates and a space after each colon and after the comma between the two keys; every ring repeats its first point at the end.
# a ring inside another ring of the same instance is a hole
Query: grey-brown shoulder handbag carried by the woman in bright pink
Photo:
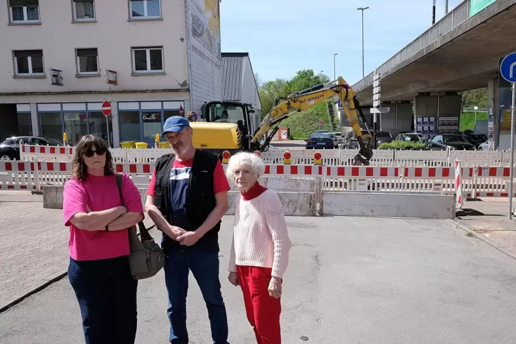
{"type": "MultiPolygon", "coordinates": [[[[122,173],[116,173],[116,186],[119,188],[120,199],[123,204],[122,197],[122,173]]],[[[165,265],[165,254],[161,247],[154,242],[149,230],[145,228],[143,221],[138,222],[138,230],[140,231],[140,238],[136,234],[134,228],[127,228],[129,233],[129,266],[132,277],[135,280],[143,280],[145,278],[153,277],[165,265]],[[140,240],[141,239],[141,240],[140,240]]]]}

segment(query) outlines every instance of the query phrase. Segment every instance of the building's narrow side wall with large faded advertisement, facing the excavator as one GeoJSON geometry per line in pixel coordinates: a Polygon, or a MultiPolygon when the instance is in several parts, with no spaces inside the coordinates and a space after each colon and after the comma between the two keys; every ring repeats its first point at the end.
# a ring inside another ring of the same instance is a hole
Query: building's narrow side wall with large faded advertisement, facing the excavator
{"type": "Polygon", "coordinates": [[[192,109],[221,99],[221,21],[219,0],[185,0],[192,109]]]}

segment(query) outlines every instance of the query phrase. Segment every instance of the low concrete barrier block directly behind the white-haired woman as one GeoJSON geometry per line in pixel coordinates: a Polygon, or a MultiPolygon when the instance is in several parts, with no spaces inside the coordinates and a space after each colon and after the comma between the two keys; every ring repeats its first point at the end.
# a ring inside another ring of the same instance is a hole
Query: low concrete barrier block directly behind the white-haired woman
{"type": "MultiPolygon", "coordinates": [[[[292,193],[277,192],[278,197],[283,205],[285,216],[304,216],[312,217],[317,215],[317,194],[316,193],[292,193]]],[[[227,215],[235,214],[236,202],[240,196],[239,191],[230,191],[228,193],[229,210],[227,215]]]]}

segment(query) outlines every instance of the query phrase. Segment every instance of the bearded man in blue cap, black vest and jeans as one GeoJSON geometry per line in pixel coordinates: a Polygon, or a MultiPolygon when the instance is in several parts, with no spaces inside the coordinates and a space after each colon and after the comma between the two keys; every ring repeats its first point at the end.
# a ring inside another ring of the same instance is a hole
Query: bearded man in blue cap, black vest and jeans
{"type": "Polygon", "coordinates": [[[170,343],[188,343],[186,293],[192,271],[208,308],[213,343],[229,344],[219,280],[218,232],[228,211],[230,184],[219,158],[195,149],[193,129],[184,117],[167,119],[162,135],[173,153],[156,161],[145,209],[163,232],[170,343]]]}

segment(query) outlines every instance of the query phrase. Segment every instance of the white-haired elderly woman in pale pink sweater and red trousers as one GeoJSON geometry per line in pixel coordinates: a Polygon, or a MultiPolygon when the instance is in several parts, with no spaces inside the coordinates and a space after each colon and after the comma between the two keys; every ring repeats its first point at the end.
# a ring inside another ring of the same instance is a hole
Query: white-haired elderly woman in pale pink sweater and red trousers
{"type": "Polygon", "coordinates": [[[264,171],[262,160],[252,153],[237,153],[228,162],[226,175],[241,191],[228,279],[242,288],[257,343],[280,344],[282,278],[292,243],[280,198],[258,182],[264,171]]]}

